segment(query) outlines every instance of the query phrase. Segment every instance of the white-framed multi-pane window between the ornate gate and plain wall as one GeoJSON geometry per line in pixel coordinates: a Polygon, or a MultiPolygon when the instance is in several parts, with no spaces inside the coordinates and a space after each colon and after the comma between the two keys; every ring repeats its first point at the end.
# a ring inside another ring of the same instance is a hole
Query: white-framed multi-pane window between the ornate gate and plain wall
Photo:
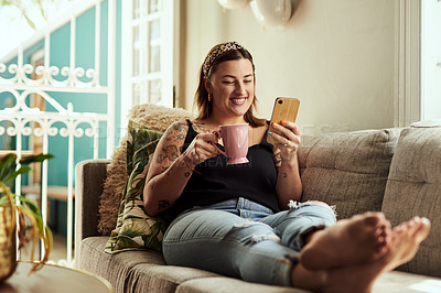
{"type": "Polygon", "coordinates": [[[179,1],[131,0],[122,4],[121,127],[128,110],[138,104],[173,107],[174,26],[179,1]]]}

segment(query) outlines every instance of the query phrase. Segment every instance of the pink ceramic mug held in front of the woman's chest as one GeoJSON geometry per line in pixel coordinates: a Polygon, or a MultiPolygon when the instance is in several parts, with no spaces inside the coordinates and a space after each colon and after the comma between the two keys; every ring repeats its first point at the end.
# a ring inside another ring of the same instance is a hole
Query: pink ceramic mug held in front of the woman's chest
{"type": "Polygon", "coordinates": [[[228,165],[248,163],[248,123],[220,126],[228,165]]]}

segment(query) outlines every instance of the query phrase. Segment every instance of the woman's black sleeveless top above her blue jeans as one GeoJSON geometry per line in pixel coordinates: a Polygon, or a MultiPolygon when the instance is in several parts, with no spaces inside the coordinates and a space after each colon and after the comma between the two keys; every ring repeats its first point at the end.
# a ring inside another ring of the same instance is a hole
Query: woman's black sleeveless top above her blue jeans
{"type": "MultiPolygon", "coordinates": [[[[197,132],[189,123],[183,151],[185,151],[197,132]]],[[[208,206],[226,199],[245,197],[278,211],[276,196],[277,170],[273,162],[272,144],[267,142],[267,134],[259,144],[248,148],[248,163],[227,165],[227,158],[219,154],[195,166],[182,195],[172,207],[178,215],[195,206],[208,206]]],[[[224,146],[216,144],[224,151],[224,146]]]]}

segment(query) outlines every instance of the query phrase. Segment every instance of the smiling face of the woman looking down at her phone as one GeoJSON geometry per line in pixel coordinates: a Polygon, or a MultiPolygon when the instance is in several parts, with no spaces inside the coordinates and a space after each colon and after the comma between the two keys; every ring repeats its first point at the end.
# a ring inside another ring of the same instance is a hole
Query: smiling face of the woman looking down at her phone
{"type": "Polygon", "coordinates": [[[244,117],[255,98],[251,62],[243,58],[219,63],[205,87],[212,95],[214,115],[244,117]]]}

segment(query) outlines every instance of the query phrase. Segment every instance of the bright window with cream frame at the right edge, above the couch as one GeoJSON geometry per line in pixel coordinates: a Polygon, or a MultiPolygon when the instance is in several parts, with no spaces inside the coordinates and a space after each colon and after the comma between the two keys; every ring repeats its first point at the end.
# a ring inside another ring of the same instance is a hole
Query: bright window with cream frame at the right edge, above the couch
{"type": "Polygon", "coordinates": [[[397,8],[396,122],[441,119],[441,0],[402,0],[397,8]]]}

